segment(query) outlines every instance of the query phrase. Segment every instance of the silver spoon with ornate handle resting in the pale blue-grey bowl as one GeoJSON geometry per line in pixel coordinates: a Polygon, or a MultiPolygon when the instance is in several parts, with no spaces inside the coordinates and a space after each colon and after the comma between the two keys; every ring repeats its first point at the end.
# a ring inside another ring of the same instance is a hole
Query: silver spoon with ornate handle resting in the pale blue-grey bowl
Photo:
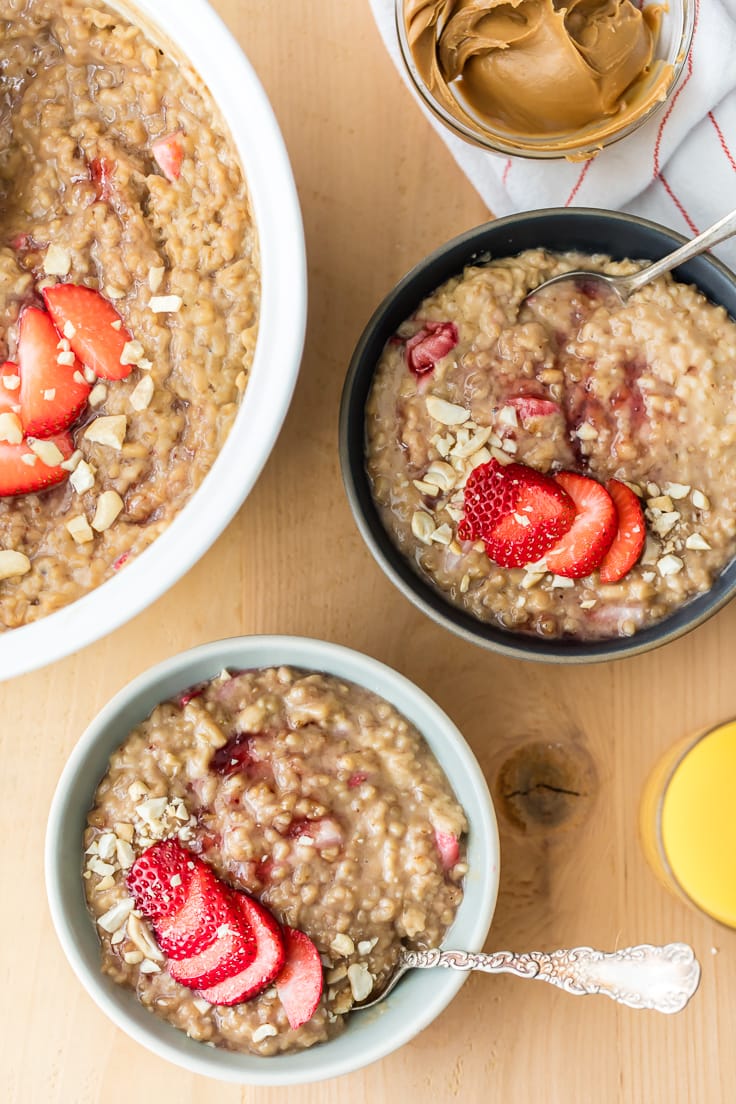
{"type": "Polygon", "coordinates": [[[606,953],[593,947],[569,951],[530,951],[514,954],[472,954],[466,951],[406,951],[402,948],[395,973],[377,997],[354,1005],[353,1011],[373,1008],[385,1000],[409,969],[444,966],[448,969],[479,969],[486,974],[515,974],[516,977],[548,981],[565,992],[588,996],[601,992],[629,1008],[657,1012],[680,1012],[693,996],[701,979],[701,967],[686,943],[668,943],[606,953]]]}

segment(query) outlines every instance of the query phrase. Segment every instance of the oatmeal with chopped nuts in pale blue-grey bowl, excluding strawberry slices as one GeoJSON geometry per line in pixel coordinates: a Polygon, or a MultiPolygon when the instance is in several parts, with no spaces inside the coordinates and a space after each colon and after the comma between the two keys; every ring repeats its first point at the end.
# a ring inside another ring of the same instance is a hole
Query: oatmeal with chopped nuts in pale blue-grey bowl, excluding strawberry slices
{"type": "Polygon", "coordinates": [[[96,792],[84,878],[103,969],[204,1042],[276,1054],[323,1041],[383,986],[401,943],[441,943],[462,898],[466,829],[422,736],[386,701],[291,668],[223,672],[153,710],[96,792]],[[306,1022],[290,1026],[282,975],[230,1007],[173,980],[181,963],[131,888],[162,838],[313,942],[323,991],[306,1022]]]}

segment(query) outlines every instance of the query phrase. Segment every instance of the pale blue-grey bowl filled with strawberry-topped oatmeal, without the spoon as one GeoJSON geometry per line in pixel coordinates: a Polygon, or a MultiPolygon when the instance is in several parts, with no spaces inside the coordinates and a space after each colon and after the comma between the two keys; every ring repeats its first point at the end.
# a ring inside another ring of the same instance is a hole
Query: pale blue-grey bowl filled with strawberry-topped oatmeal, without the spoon
{"type": "Polygon", "coordinates": [[[416,970],[350,1009],[401,944],[479,949],[498,881],[488,786],[451,721],[382,664],[292,637],[205,645],[130,683],[73,751],[46,834],[56,933],[103,1011],[179,1065],[253,1084],[408,1042],[461,975],[416,970]],[[255,952],[231,945],[244,906],[255,952]]]}

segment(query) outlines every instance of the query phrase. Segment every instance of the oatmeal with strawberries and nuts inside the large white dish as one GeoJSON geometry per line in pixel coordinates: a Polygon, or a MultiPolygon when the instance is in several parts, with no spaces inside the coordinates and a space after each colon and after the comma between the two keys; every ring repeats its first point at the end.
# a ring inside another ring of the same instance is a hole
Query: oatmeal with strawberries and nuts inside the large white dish
{"type": "Polygon", "coordinates": [[[259,275],[236,150],[184,64],[84,0],[0,0],[0,56],[8,629],[110,577],[202,482],[246,384],[259,275]]]}

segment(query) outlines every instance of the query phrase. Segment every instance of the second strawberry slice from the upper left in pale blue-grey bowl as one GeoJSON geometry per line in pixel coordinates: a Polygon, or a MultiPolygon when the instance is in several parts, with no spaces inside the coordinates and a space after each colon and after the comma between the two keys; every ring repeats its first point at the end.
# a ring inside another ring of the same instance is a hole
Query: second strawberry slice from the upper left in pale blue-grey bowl
{"type": "Polygon", "coordinates": [[[154,923],[156,937],[169,958],[189,958],[205,951],[217,938],[217,932],[232,921],[232,907],[223,883],[200,859],[194,863],[181,909],[154,923]]]}

